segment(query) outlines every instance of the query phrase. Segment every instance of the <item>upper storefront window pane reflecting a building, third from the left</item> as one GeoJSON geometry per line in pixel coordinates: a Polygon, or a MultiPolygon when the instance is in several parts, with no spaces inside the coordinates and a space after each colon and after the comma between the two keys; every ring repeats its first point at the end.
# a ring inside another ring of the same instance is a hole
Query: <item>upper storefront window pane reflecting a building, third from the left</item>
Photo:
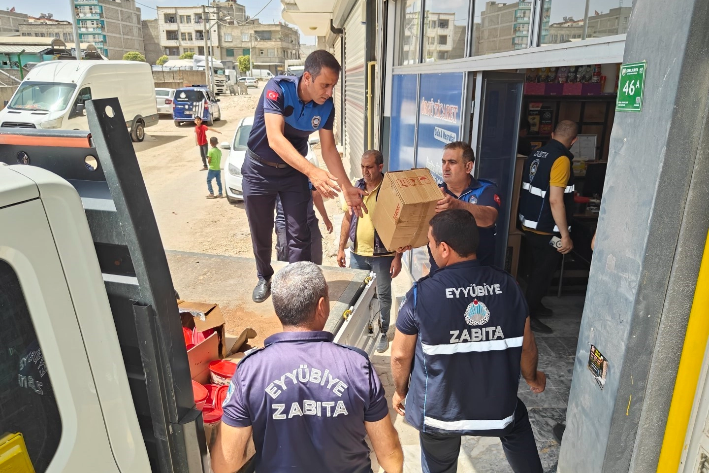
{"type": "MultiPolygon", "coordinates": [[[[550,1],[547,0],[547,3],[550,1]]],[[[494,1],[476,1],[473,55],[482,56],[527,48],[531,17],[531,1],[509,1],[505,4],[494,1]]]]}

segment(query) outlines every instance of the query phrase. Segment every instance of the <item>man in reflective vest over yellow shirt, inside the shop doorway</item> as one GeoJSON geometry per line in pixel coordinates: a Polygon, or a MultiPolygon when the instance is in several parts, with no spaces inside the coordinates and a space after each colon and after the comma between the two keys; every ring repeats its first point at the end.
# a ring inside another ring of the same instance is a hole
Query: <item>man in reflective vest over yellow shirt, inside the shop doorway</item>
{"type": "Polygon", "coordinates": [[[527,157],[522,172],[519,218],[525,234],[525,297],[530,308],[532,330],[540,333],[552,333],[552,329],[538,319],[552,315],[552,311],[542,305],[542,297],[549,289],[559,258],[574,248],[570,234],[574,214],[574,172],[571,168],[574,155],[569,148],[576,142],[577,130],[573,121],[560,121],[552,133],[552,140],[527,157]]]}

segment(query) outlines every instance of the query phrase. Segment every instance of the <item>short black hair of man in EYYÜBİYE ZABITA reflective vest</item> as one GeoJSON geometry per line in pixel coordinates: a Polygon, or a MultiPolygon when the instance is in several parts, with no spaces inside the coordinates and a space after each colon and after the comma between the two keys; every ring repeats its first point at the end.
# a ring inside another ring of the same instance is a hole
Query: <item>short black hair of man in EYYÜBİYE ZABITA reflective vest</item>
{"type": "Polygon", "coordinates": [[[436,213],[429,223],[436,246],[444,242],[459,256],[478,251],[480,235],[472,213],[462,208],[436,213]]]}

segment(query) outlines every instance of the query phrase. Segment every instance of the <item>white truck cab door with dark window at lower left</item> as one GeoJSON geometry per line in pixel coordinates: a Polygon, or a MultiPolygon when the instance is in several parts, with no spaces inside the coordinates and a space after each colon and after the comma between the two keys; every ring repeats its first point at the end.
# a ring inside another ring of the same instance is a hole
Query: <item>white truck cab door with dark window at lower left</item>
{"type": "Polygon", "coordinates": [[[42,202],[0,208],[0,226],[0,438],[21,435],[36,473],[118,473],[42,202]]]}

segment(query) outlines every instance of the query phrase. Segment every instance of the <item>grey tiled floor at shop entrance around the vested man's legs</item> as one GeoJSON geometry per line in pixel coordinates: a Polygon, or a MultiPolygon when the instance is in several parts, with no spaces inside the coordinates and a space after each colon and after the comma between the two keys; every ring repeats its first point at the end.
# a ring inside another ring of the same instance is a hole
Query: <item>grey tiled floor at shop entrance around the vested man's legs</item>
{"type": "MultiPolygon", "coordinates": [[[[546,297],[544,304],[554,311],[552,318],[543,320],[554,329],[554,333],[535,336],[539,348],[539,369],[547,374],[547,389],[541,394],[532,394],[529,386],[522,379],[518,396],[524,401],[529,411],[544,471],[545,473],[553,473],[557,471],[559,444],[554,440],[552,427],[566,419],[566,404],[569,402],[571,374],[574,372],[574,356],[581,325],[581,313],[584,309],[584,297],[546,297]]],[[[375,353],[372,356],[372,362],[376,372],[379,373],[381,383],[384,384],[386,396],[391,406],[393,386],[389,352],[381,355],[375,353]]],[[[421,452],[418,444],[418,432],[411,425],[405,423],[403,418],[391,408],[390,413],[403,445],[404,472],[420,472],[421,452]]],[[[376,472],[376,464],[372,466],[376,472]]],[[[498,438],[466,437],[462,440],[458,472],[511,473],[512,469],[507,463],[498,438]]]]}

